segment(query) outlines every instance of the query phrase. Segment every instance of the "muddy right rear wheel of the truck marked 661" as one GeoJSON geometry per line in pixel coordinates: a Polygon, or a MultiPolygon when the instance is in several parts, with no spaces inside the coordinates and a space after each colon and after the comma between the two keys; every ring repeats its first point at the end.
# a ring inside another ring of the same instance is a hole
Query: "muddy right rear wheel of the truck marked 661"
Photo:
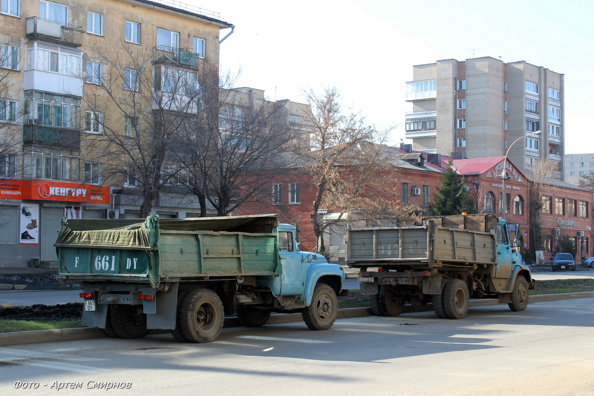
{"type": "Polygon", "coordinates": [[[179,327],[191,343],[210,343],[223,329],[223,303],[212,290],[189,292],[179,312],[179,327]]]}

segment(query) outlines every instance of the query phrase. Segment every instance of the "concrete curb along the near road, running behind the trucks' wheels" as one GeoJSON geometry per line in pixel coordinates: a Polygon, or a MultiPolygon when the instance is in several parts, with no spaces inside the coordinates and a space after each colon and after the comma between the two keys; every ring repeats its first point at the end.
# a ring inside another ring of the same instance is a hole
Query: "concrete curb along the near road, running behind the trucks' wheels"
{"type": "MultiPolygon", "coordinates": [[[[567,300],[567,299],[583,299],[594,297],[594,292],[580,292],[580,293],[562,293],[562,294],[538,294],[530,296],[530,303],[567,300]]],[[[470,306],[483,305],[497,305],[497,299],[485,300],[470,300],[470,306]]],[[[432,311],[431,305],[425,305],[421,308],[414,308],[410,305],[405,306],[405,313],[410,312],[425,312],[432,311]]],[[[345,318],[359,318],[362,316],[371,316],[371,309],[369,308],[342,308],[338,310],[337,319],[345,318]]],[[[267,324],[280,324],[289,322],[301,322],[303,319],[301,313],[275,313],[270,316],[267,324]]],[[[224,327],[240,327],[239,321],[235,316],[225,318],[224,327]]],[[[168,331],[154,330],[150,334],[161,334],[168,331]]],[[[35,343],[50,343],[53,341],[74,341],[74,340],[89,340],[90,338],[106,337],[105,333],[100,328],[94,327],[80,327],[67,329],[53,329],[53,330],[34,330],[34,331],[19,331],[19,332],[5,332],[0,333],[0,346],[18,345],[18,344],[35,344],[35,343]]]]}

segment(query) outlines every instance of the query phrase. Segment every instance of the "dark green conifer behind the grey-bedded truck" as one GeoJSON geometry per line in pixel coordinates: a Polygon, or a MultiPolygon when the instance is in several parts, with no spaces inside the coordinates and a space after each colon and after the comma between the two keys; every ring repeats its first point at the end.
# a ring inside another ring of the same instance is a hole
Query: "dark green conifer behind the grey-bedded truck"
{"type": "Polygon", "coordinates": [[[447,169],[440,176],[440,186],[433,194],[434,202],[429,202],[429,216],[476,213],[475,201],[466,189],[464,176],[456,173],[452,163],[450,158],[447,169]]]}

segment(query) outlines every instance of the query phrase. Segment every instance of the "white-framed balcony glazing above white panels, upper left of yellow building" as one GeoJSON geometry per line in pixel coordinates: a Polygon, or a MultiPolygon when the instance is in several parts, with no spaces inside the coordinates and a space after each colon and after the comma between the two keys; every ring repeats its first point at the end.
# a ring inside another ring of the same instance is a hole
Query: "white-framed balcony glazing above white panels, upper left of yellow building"
{"type": "Polygon", "coordinates": [[[27,43],[26,69],[81,76],[83,56],[79,50],[39,42],[27,43]]]}

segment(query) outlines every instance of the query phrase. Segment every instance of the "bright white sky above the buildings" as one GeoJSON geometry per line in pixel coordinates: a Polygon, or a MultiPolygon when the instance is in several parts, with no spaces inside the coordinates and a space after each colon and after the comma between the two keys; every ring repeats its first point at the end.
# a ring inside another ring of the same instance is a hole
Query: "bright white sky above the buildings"
{"type": "MultiPolygon", "coordinates": [[[[594,153],[592,0],[185,0],[236,26],[220,48],[238,87],[304,102],[335,86],[369,123],[405,136],[412,66],[492,56],[565,74],[565,154],[594,153]]],[[[222,31],[227,34],[229,29],[222,31]]]]}

